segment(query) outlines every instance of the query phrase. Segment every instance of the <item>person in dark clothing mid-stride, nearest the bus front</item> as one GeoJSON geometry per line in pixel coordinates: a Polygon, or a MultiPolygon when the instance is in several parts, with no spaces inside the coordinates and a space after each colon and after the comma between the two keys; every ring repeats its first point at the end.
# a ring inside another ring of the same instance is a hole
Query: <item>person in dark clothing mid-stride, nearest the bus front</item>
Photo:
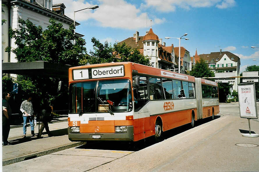
{"type": "Polygon", "coordinates": [[[44,109],[42,110],[42,124],[40,126],[40,131],[39,131],[39,134],[38,134],[38,138],[41,138],[41,135],[42,135],[42,132],[45,128],[47,134],[49,137],[51,137],[51,133],[49,131],[49,125],[48,125],[48,122],[50,122],[52,120],[52,111],[53,111],[53,107],[52,106],[49,106],[49,105],[46,105],[47,103],[45,103],[44,105],[44,109]]]}

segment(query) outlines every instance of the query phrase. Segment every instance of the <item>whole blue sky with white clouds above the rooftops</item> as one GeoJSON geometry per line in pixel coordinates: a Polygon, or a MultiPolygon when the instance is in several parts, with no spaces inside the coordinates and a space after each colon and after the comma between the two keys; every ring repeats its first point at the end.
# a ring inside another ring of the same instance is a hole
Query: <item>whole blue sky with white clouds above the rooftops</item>
{"type": "Polygon", "coordinates": [[[193,56],[210,52],[230,51],[240,57],[240,72],[249,65],[259,65],[259,1],[258,0],[53,0],[64,3],[65,15],[74,18],[73,11],[97,4],[95,10],[76,12],[80,23],[76,32],[85,35],[86,48],[93,50],[91,38],[111,44],[132,37],[136,31],[145,35],[150,29],[166,42],[166,46],[179,46],[181,37],[193,56]],[[253,61],[258,59],[258,61],[253,61]]]}

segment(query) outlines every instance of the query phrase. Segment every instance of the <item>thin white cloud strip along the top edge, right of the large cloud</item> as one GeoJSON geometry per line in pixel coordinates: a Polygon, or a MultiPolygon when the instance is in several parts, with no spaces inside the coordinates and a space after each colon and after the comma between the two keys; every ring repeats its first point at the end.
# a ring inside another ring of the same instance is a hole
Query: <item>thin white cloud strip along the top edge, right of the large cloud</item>
{"type": "Polygon", "coordinates": [[[215,6],[220,9],[225,9],[235,6],[235,0],[145,0],[141,4],[142,8],[155,8],[160,12],[175,11],[177,7],[187,9],[190,8],[205,8],[215,6]]]}

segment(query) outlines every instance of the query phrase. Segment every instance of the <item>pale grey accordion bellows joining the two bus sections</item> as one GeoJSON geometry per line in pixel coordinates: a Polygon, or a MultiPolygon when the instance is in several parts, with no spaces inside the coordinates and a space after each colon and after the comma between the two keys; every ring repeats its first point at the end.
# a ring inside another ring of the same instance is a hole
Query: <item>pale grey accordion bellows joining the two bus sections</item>
{"type": "Polygon", "coordinates": [[[202,119],[201,78],[195,78],[195,91],[197,100],[197,119],[202,119]]]}

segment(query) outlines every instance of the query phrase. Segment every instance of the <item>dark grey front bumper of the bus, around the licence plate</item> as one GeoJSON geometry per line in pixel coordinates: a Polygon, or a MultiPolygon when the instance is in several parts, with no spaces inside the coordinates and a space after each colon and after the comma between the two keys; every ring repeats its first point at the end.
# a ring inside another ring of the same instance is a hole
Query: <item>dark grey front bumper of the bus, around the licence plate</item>
{"type": "Polygon", "coordinates": [[[107,140],[107,141],[133,141],[133,126],[126,126],[126,133],[76,133],[72,132],[68,127],[68,139],[70,141],[93,141],[93,140],[107,140]],[[100,138],[93,138],[99,137],[100,138]]]}

